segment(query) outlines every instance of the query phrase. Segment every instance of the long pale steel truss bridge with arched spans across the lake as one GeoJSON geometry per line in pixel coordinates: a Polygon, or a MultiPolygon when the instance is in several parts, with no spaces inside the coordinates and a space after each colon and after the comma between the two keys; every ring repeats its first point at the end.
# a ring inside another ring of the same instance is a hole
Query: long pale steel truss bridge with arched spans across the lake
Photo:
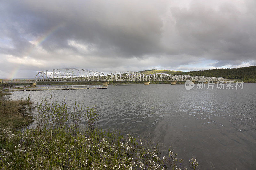
{"type": "Polygon", "coordinates": [[[0,83],[30,83],[31,86],[36,86],[36,82],[102,82],[103,85],[108,85],[110,81],[136,81],[144,82],[149,85],[150,81],[171,81],[171,84],[176,84],[177,81],[190,80],[192,82],[220,82],[226,81],[222,77],[204,77],[204,76],[190,76],[190,75],[171,75],[166,73],[143,74],[141,72],[121,71],[104,75],[101,72],[87,69],[53,69],[40,71],[32,80],[22,79],[0,79],[0,83]]]}

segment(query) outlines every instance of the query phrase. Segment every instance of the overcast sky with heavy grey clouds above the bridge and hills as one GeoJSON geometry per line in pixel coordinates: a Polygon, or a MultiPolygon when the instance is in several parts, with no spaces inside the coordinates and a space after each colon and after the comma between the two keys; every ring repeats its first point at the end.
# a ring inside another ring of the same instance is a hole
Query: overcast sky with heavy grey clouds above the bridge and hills
{"type": "Polygon", "coordinates": [[[255,0],[0,0],[0,78],[256,65],[255,0]]]}

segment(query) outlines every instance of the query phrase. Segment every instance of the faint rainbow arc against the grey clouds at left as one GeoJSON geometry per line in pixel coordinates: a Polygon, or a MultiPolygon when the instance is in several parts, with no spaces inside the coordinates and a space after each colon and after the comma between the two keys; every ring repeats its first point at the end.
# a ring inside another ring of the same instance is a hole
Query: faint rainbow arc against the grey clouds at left
{"type": "MultiPolygon", "coordinates": [[[[40,36],[36,41],[35,41],[35,45],[34,48],[31,48],[28,50],[27,55],[26,56],[30,56],[30,54],[33,52],[33,50],[40,46],[44,41],[47,40],[47,38],[49,38],[53,33],[55,33],[57,30],[59,30],[60,28],[64,27],[65,24],[61,23],[57,26],[52,27],[50,30],[48,30],[46,33],[44,33],[43,36],[40,36]]],[[[12,72],[9,75],[8,79],[13,79],[17,73],[20,70],[21,65],[18,65],[15,69],[12,70],[12,72]]]]}

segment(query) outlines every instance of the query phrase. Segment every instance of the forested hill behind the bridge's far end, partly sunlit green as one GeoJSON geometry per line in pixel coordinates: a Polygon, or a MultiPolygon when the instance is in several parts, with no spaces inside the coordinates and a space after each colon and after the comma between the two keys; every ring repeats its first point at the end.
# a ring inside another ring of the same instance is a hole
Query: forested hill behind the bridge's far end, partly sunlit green
{"type": "Polygon", "coordinates": [[[191,76],[213,76],[213,77],[224,77],[227,79],[240,79],[244,80],[244,82],[256,82],[256,66],[250,67],[241,67],[241,68],[233,68],[233,69],[210,69],[210,70],[201,70],[201,71],[171,71],[171,70],[145,70],[140,71],[144,74],[154,74],[154,73],[168,73],[172,75],[177,74],[188,74],[191,76]]]}

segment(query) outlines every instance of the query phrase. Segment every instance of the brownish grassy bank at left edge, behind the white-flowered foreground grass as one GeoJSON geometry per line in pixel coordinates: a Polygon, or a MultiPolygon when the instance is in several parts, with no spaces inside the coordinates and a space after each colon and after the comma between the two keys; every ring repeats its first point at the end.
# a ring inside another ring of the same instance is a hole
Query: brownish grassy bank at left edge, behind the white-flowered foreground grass
{"type": "Polygon", "coordinates": [[[0,127],[19,128],[33,122],[30,98],[10,100],[10,94],[0,92],[0,127]]]}

